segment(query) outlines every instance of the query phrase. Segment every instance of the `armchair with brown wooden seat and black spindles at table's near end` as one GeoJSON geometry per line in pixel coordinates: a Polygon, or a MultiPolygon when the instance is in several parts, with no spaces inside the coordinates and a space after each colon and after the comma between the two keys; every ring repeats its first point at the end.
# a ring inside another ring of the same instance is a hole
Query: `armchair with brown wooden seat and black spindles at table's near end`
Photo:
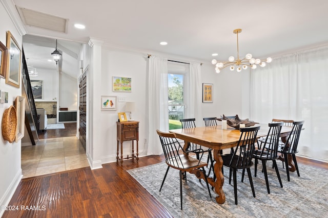
{"type": "MultiPolygon", "coordinates": [[[[182,210],[182,180],[183,180],[183,174],[186,174],[186,172],[194,171],[194,169],[199,169],[202,174],[204,175],[207,188],[211,196],[210,186],[207,180],[206,171],[204,169],[204,166],[207,165],[206,162],[202,162],[201,158],[196,159],[188,155],[188,153],[192,152],[186,152],[183,151],[183,148],[181,147],[180,143],[176,139],[176,136],[174,133],[165,133],[161,132],[159,130],[156,130],[157,134],[159,136],[159,140],[165,155],[165,162],[168,165],[168,168],[166,170],[165,176],[163,178],[162,184],[160,186],[159,191],[161,191],[164,181],[168,175],[170,167],[178,169],[179,175],[180,175],[180,203],[181,203],[181,210],[182,210]],[[182,154],[181,154],[182,153],[182,154]]],[[[201,156],[203,155],[202,149],[198,149],[199,154],[201,156]]]]}

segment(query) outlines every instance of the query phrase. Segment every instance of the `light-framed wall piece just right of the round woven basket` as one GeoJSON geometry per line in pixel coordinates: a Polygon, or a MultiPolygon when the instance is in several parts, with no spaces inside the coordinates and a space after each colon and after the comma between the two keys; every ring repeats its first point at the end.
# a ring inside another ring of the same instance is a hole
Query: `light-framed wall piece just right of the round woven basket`
{"type": "Polygon", "coordinates": [[[16,117],[17,117],[17,128],[15,142],[24,137],[25,130],[25,98],[17,96],[15,99],[16,117]]]}

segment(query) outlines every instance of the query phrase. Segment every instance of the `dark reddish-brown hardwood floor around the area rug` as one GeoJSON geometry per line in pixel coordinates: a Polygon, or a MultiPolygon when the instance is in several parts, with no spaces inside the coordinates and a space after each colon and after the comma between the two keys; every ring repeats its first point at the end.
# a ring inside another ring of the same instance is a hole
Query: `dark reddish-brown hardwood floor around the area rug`
{"type": "MultiPolygon", "coordinates": [[[[325,162],[297,157],[299,163],[328,169],[325,162]]],[[[22,179],[3,217],[172,217],[127,169],[165,161],[161,156],[132,159],[22,179]],[[39,210],[23,210],[21,205],[39,210]]],[[[152,176],[152,175],[149,175],[152,176]]]]}

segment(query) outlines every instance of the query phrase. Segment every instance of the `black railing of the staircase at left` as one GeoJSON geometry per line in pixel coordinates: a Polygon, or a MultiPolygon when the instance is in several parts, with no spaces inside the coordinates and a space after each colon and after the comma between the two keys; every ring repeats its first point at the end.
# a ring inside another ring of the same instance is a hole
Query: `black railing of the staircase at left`
{"type": "Polygon", "coordinates": [[[29,70],[28,70],[27,64],[26,64],[24,49],[23,49],[22,64],[23,64],[23,67],[22,67],[23,83],[25,85],[28,102],[30,104],[30,108],[31,108],[31,112],[32,112],[33,120],[34,120],[34,125],[36,128],[36,131],[39,132],[39,129],[38,129],[39,127],[37,125],[38,120],[37,120],[36,106],[35,106],[35,102],[34,102],[33,91],[32,91],[32,86],[31,86],[31,81],[30,81],[30,76],[29,76],[29,70]]]}

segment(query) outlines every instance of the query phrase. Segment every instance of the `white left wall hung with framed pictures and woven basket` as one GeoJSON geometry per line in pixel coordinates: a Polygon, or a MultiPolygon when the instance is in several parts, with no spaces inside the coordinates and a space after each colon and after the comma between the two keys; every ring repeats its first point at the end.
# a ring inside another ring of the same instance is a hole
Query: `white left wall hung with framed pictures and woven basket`
{"type": "MultiPolygon", "coordinates": [[[[22,35],[20,35],[15,28],[3,4],[0,4],[0,19],[0,41],[6,45],[6,31],[10,31],[18,45],[22,47],[22,35]]],[[[5,109],[13,105],[14,99],[17,95],[22,95],[22,91],[20,88],[7,85],[3,78],[0,78],[0,89],[8,92],[9,96],[7,104],[0,104],[0,120],[2,120],[5,109]]],[[[0,132],[2,132],[2,130],[0,130],[0,132]]],[[[20,168],[20,140],[17,143],[9,143],[3,139],[1,134],[0,166],[0,205],[7,205],[22,178],[22,169],[20,168]]],[[[0,216],[3,212],[4,210],[0,210],[0,216]]]]}

